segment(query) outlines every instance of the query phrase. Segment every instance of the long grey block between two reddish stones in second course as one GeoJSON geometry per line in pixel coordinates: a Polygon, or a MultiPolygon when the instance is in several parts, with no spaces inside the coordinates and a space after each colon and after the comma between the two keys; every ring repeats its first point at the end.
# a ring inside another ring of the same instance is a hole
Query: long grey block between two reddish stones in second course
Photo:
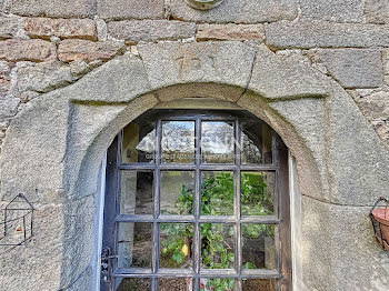
{"type": "Polygon", "coordinates": [[[108,33],[128,44],[139,41],[189,39],[196,34],[196,24],[168,20],[131,20],[108,23],[108,33]]]}

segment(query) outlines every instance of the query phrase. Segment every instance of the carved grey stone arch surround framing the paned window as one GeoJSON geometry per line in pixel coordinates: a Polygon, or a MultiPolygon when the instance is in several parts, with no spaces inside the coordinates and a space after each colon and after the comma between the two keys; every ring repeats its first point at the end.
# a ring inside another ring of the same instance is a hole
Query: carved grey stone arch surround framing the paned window
{"type": "MultiPolygon", "coordinates": [[[[222,99],[267,121],[297,159],[305,218],[317,212],[339,227],[342,211],[335,204],[363,209],[389,189],[386,149],[343,89],[301,56],[279,57],[265,46],[242,42],[166,42],[138,48],[74,84],[31,101],[12,121],[2,147],[1,198],[24,192],[38,208],[36,238],[21,253],[9,252],[3,260],[4,265],[18,257],[28,261],[20,268],[27,279],[16,290],[27,285],[30,290],[71,290],[74,282],[89,284],[93,194],[102,157],[126,124],[159,102],[222,99]],[[372,174],[366,175],[369,171],[372,174]],[[360,181],[356,175],[367,178],[360,181]],[[51,213],[50,223],[47,213],[51,213]],[[50,235],[56,237],[53,245],[47,242],[50,235]],[[47,243],[50,248],[42,248],[47,243]],[[37,279],[29,275],[34,268],[51,271],[37,279]]],[[[328,272],[319,271],[321,260],[315,258],[320,253],[326,260],[332,249],[341,244],[352,249],[353,244],[346,238],[330,238],[321,245],[320,240],[333,231],[331,227],[318,230],[322,223],[302,223],[303,280],[308,285],[316,278],[339,287],[336,274],[341,264],[333,259],[339,255],[331,257],[328,272]]],[[[362,241],[369,245],[369,240],[362,241]]],[[[373,248],[363,254],[366,260],[378,255],[373,248]]],[[[7,272],[4,278],[7,281],[7,272]]]]}

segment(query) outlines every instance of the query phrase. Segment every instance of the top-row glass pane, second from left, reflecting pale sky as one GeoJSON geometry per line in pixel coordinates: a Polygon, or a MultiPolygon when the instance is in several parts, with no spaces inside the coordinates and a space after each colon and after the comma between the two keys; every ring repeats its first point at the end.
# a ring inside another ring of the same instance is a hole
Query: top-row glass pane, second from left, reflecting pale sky
{"type": "Polygon", "coordinates": [[[162,161],[166,163],[194,161],[194,121],[162,123],[162,161]]]}

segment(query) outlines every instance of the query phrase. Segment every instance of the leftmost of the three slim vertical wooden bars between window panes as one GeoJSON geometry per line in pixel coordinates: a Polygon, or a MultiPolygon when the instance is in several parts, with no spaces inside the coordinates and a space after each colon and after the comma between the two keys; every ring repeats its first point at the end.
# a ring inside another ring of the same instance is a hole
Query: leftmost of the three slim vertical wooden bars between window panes
{"type": "Polygon", "coordinates": [[[154,170],[154,203],[153,203],[153,231],[152,231],[152,279],[151,279],[151,291],[158,291],[158,279],[156,273],[159,269],[159,224],[157,222],[160,214],[160,199],[161,199],[161,170],[160,165],[162,162],[162,121],[158,119],[157,124],[157,144],[156,144],[156,170],[154,170]]]}

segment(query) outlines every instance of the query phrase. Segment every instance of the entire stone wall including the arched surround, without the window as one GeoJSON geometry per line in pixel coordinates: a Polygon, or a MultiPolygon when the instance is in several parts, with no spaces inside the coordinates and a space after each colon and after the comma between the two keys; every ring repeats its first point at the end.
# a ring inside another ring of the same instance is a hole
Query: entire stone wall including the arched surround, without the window
{"type": "Polygon", "coordinates": [[[104,150],[157,102],[196,96],[256,113],[296,157],[306,290],[389,288],[367,219],[389,190],[387,0],[0,6],[0,198],[22,191],[38,212],[30,248],[0,260],[0,289],[90,290],[104,150]]]}

